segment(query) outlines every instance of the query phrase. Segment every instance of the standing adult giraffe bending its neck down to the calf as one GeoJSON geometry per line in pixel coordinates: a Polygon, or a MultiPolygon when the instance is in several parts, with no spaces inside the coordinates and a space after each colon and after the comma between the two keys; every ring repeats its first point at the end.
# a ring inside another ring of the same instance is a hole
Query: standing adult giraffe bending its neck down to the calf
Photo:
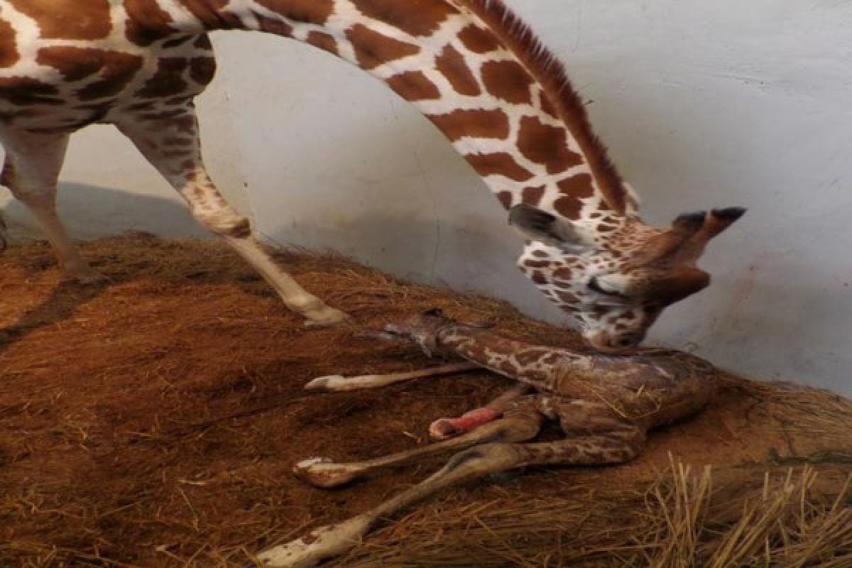
{"type": "Polygon", "coordinates": [[[68,136],[112,123],[288,307],[344,317],[273,264],[204,169],[193,98],[216,68],[205,32],[221,29],[310,43],[417,106],[526,233],[521,271],[597,346],[636,344],[704,288],[695,262],[744,211],[640,221],[562,67],[498,0],[0,0],[3,183],[68,276],[97,278],[55,215],[68,136]]]}

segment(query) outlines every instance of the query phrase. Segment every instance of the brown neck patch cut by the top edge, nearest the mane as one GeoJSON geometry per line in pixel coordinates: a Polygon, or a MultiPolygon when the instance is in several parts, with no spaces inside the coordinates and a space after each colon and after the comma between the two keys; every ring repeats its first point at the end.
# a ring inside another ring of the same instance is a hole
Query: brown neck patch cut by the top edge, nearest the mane
{"type": "Polygon", "coordinates": [[[412,36],[429,36],[450,14],[458,14],[446,0],[354,0],[355,8],[412,36]]]}

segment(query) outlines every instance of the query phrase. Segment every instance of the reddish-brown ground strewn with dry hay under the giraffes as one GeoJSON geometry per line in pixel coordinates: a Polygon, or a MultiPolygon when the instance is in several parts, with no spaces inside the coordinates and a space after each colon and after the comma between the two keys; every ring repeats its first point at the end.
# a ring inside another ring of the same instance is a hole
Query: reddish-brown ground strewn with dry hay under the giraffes
{"type": "MultiPolygon", "coordinates": [[[[306,393],[314,376],[428,362],[357,326],[303,329],[218,244],[135,235],[83,252],[109,284],[60,284],[44,244],[0,257],[3,568],[245,565],[251,552],[359,513],[438,465],[318,491],[293,478],[296,461],[425,444],[429,422],[508,384],[469,373],[306,393]]],[[[530,341],[577,341],[503,302],[330,255],[278,259],[359,325],[443,307],[530,341]]],[[[653,434],[635,462],[469,485],[332,565],[852,566],[852,403],[725,383],[711,408],[653,434]]]]}

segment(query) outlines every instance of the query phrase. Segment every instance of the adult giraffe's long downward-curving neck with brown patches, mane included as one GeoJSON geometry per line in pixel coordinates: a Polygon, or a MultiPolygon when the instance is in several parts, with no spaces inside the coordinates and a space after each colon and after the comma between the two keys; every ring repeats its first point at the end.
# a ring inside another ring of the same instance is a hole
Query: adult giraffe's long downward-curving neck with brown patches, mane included
{"type": "Polygon", "coordinates": [[[622,226],[625,189],[561,66],[495,0],[128,0],[150,36],[249,29],[292,37],[417,106],[505,207],[531,204],[593,238],[622,226]]]}

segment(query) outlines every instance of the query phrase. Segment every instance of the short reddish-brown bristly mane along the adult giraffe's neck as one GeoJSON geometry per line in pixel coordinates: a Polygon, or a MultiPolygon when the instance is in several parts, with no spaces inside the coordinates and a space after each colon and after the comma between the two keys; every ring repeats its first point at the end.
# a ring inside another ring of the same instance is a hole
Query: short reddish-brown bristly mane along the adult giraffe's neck
{"type": "Polygon", "coordinates": [[[565,66],[503,0],[457,1],[479,16],[541,83],[550,104],[583,150],[604,200],[611,209],[624,214],[627,208],[624,180],[609,158],[607,146],[592,130],[583,100],[568,79],[565,66]]]}

